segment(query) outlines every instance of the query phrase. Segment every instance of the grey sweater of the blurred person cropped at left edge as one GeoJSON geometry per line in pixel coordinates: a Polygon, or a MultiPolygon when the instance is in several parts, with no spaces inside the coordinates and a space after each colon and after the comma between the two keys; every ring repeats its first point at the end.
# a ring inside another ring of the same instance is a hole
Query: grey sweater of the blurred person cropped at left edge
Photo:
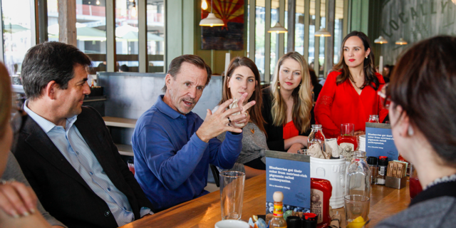
{"type": "MultiPolygon", "coordinates": [[[[17,182],[21,182],[24,185],[30,187],[30,184],[28,184],[28,181],[26,177],[24,176],[24,173],[21,170],[21,167],[19,166],[19,163],[16,160],[16,157],[9,152],[8,155],[8,162],[6,162],[6,169],[3,175],[1,176],[2,180],[11,180],[14,179],[17,182]]],[[[66,227],[63,225],[61,222],[58,222],[57,219],[51,216],[49,212],[46,212],[46,209],[44,209],[43,205],[41,205],[41,202],[38,199],[38,203],[36,205],[38,208],[38,211],[43,215],[44,219],[48,221],[51,226],[61,226],[61,227],[66,227]]]]}

